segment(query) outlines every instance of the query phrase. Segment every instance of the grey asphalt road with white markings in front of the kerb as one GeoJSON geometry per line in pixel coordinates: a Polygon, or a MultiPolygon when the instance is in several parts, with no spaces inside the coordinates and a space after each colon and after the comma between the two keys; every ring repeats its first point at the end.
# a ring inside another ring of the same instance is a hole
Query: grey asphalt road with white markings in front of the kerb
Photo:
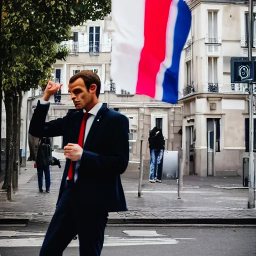
{"type": "MultiPolygon", "coordinates": [[[[0,255],[38,256],[44,234],[38,228],[45,231],[45,226],[5,230],[9,237],[1,236],[0,231],[0,255]]],[[[107,227],[102,256],[253,256],[255,235],[256,228],[239,227],[107,227]]],[[[78,254],[78,240],[73,240],[63,255],[78,254]]]]}

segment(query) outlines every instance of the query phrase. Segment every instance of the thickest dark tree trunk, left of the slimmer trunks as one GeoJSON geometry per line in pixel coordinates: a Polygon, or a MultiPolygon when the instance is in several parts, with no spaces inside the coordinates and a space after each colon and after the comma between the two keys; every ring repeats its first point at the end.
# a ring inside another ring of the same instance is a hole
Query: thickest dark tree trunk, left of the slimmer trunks
{"type": "Polygon", "coordinates": [[[12,159],[13,159],[13,107],[12,93],[4,92],[4,104],[6,109],[6,165],[3,189],[7,190],[7,199],[12,199],[12,159]]]}

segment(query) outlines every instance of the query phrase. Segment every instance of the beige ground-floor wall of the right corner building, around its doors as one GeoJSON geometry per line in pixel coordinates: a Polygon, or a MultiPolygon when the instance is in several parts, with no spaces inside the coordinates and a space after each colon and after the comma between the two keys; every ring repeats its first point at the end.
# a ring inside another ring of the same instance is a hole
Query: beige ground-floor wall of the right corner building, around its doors
{"type": "Polygon", "coordinates": [[[244,94],[198,94],[183,101],[186,109],[182,125],[185,175],[189,173],[189,160],[185,154],[185,127],[194,125],[195,171],[200,176],[207,176],[207,118],[221,118],[220,152],[216,152],[215,156],[216,174],[242,174],[242,154],[245,150],[244,119],[248,117],[248,101],[245,97],[244,94]],[[210,103],[216,104],[215,110],[210,110],[210,103]],[[195,105],[195,112],[191,105],[195,105]]]}

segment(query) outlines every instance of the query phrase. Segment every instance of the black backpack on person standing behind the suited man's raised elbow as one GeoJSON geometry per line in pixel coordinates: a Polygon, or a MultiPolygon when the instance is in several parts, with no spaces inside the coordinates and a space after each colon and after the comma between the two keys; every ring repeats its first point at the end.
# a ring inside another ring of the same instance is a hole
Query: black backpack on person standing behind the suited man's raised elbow
{"type": "Polygon", "coordinates": [[[52,162],[51,147],[48,138],[41,138],[36,157],[36,165],[43,167],[49,166],[52,162]]]}

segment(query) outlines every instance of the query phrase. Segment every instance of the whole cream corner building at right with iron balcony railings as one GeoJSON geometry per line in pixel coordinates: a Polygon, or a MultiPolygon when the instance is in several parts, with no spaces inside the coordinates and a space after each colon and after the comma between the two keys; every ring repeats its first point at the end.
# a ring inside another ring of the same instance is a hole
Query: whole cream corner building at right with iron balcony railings
{"type": "MultiPolygon", "coordinates": [[[[247,56],[248,6],[239,0],[188,4],[192,24],[179,74],[184,174],[241,175],[248,93],[246,84],[231,84],[230,58],[247,56]]],[[[255,29],[254,21],[254,46],[255,29]]]]}

